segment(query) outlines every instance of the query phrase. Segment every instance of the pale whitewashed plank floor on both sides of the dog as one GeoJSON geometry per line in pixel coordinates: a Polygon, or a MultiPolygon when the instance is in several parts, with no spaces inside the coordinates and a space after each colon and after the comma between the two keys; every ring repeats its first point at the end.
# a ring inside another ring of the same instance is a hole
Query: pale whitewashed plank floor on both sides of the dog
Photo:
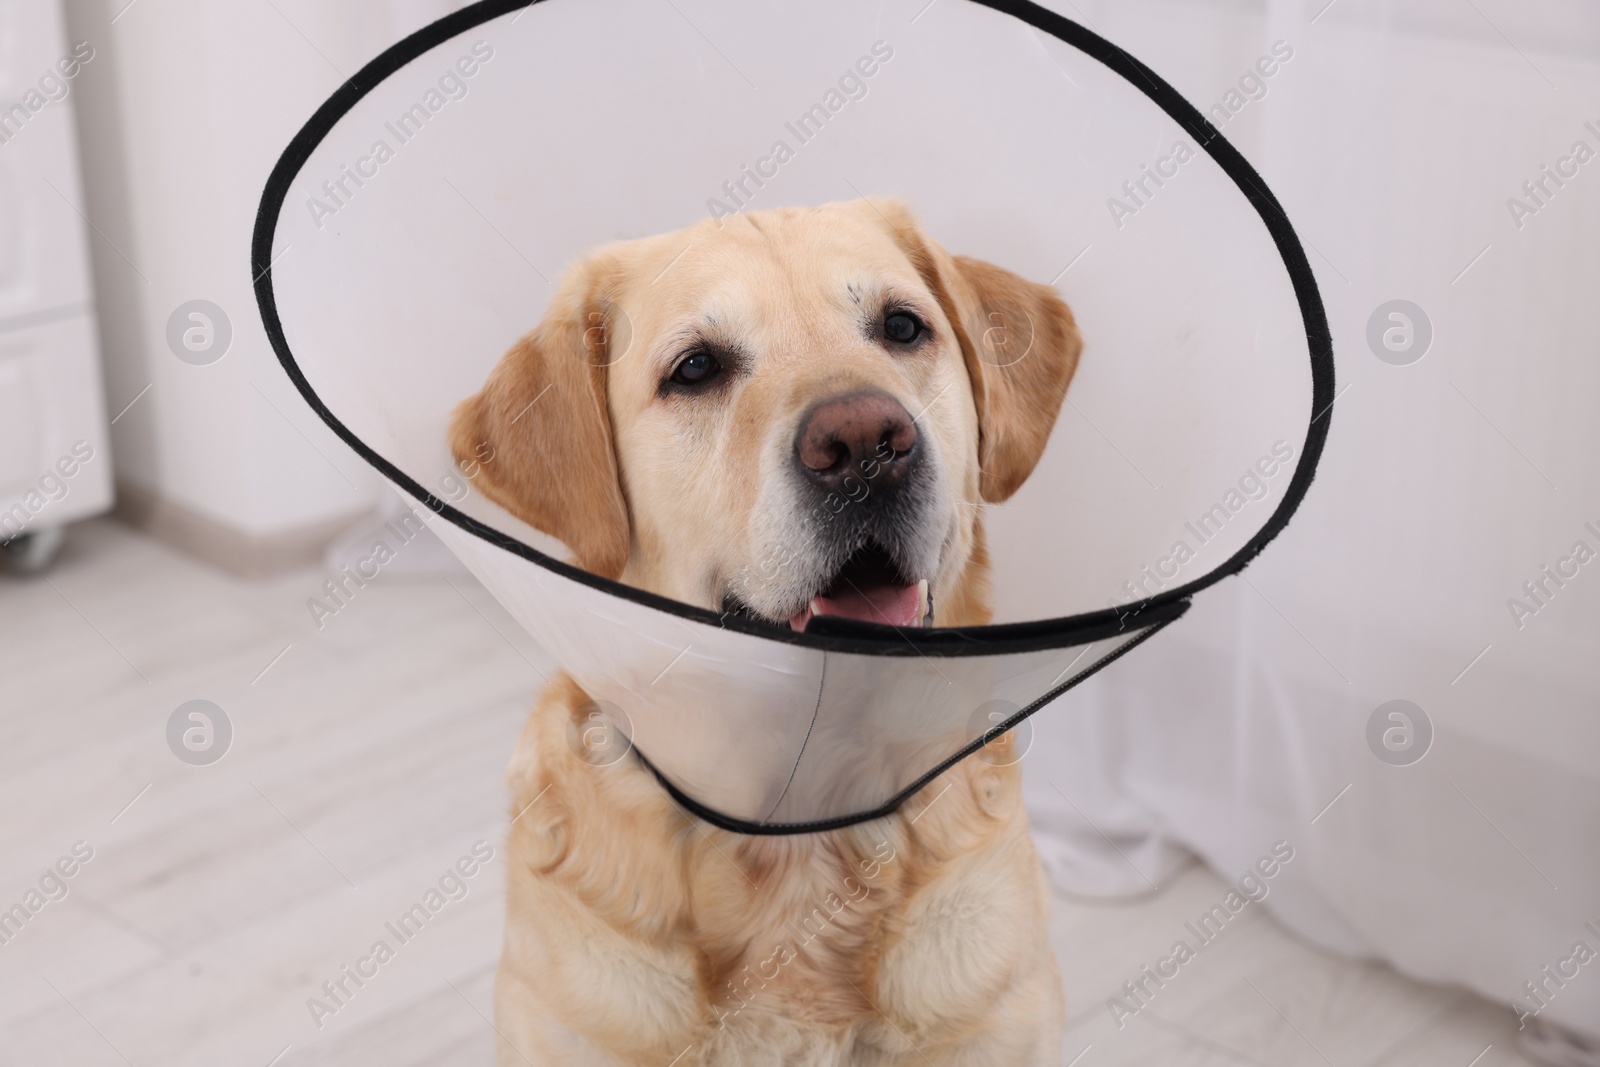
{"type": "MultiPolygon", "coordinates": [[[[475,841],[499,848],[549,665],[462,579],[382,574],[318,630],[325,577],[243,582],[109,522],[74,528],[46,579],[0,577],[0,910],[94,849],[0,945],[0,1065],[491,1061],[498,862],[320,1027],[307,998],[475,841]],[[211,766],[166,747],[190,699],[234,726],[211,766]]],[[[1504,1006],[1328,957],[1261,909],[1118,1029],[1107,998],[1221,893],[1192,869],[1134,902],[1058,901],[1062,1062],[1530,1062],[1504,1006]]]]}

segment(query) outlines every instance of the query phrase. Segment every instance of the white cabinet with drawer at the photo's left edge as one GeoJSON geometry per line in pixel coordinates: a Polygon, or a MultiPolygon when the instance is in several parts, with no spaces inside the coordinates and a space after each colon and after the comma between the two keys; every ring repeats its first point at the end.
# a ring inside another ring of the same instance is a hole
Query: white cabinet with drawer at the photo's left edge
{"type": "Polygon", "coordinates": [[[0,541],[112,501],[72,120],[85,59],[56,0],[0,5],[0,541]]]}

